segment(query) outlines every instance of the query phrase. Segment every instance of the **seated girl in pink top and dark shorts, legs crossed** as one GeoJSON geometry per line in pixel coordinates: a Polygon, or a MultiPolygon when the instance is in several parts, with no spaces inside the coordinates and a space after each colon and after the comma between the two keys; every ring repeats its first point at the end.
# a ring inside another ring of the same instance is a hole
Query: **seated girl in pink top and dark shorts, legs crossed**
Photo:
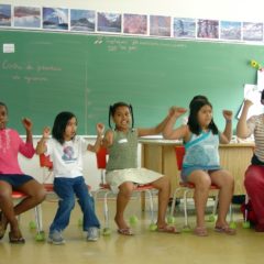
{"type": "Polygon", "coordinates": [[[32,122],[23,119],[22,124],[26,133],[24,143],[15,130],[7,128],[8,108],[0,102],[0,239],[3,238],[10,224],[10,243],[24,243],[15,216],[34,208],[45,198],[43,186],[33,177],[24,175],[20,168],[18,155],[33,157],[35,150],[32,140],[32,122]],[[12,202],[12,190],[26,195],[15,207],[12,202]]]}

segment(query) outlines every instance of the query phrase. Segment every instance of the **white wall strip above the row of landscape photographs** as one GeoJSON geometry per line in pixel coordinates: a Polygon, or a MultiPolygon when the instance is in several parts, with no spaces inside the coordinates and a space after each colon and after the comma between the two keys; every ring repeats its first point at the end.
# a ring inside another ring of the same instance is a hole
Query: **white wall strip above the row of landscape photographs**
{"type": "Polygon", "coordinates": [[[263,0],[0,0],[0,3],[262,22],[263,0]]]}

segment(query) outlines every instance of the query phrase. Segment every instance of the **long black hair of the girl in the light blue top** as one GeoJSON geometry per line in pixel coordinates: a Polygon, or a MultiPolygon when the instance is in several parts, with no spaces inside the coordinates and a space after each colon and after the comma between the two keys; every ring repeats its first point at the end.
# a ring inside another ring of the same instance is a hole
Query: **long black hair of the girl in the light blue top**
{"type": "MultiPolygon", "coordinates": [[[[190,131],[196,135],[199,135],[201,133],[201,128],[198,123],[198,112],[205,106],[209,106],[212,109],[212,106],[208,100],[195,100],[190,106],[190,113],[187,124],[189,125],[190,131]]],[[[208,125],[208,129],[211,130],[213,134],[218,134],[218,128],[215,124],[213,119],[208,125]]]]}

